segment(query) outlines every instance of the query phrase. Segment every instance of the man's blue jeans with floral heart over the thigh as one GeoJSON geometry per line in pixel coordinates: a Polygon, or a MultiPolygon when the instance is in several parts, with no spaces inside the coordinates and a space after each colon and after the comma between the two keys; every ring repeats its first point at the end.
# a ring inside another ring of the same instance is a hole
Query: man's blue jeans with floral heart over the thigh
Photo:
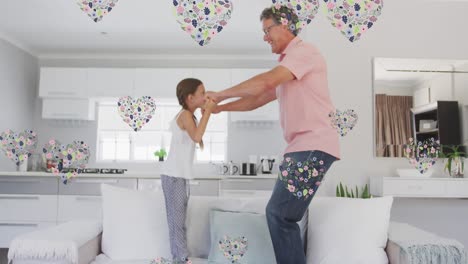
{"type": "Polygon", "coordinates": [[[305,264],[304,248],[297,222],[336,158],[322,151],[291,152],[284,155],[279,175],[266,208],[268,228],[278,264],[305,264]]]}

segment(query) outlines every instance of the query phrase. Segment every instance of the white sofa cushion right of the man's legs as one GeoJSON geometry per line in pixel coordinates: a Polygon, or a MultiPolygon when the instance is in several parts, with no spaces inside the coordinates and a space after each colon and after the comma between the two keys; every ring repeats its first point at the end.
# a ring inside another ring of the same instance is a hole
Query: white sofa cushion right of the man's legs
{"type": "Polygon", "coordinates": [[[392,197],[315,197],[309,206],[307,263],[388,263],[384,249],[392,203],[392,197]]]}

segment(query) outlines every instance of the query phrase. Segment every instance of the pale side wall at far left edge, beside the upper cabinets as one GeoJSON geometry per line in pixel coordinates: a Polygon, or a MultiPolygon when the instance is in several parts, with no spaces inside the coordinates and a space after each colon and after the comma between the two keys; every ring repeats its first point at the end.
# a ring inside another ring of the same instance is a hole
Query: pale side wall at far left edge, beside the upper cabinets
{"type": "MultiPolygon", "coordinates": [[[[0,131],[36,129],[38,60],[0,38],[0,131]]],[[[16,165],[0,152],[0,171],[16,165]]]]}

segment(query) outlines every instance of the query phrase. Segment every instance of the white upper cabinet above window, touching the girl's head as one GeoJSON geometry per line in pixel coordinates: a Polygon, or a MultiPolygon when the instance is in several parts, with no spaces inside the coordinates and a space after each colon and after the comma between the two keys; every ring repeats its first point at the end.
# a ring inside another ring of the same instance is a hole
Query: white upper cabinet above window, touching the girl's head
{"type": "Polygon", "coordinates": [[[177,84],[192,76],[192,69],[135,69],[135,95],[175,98],[177,84]]]}

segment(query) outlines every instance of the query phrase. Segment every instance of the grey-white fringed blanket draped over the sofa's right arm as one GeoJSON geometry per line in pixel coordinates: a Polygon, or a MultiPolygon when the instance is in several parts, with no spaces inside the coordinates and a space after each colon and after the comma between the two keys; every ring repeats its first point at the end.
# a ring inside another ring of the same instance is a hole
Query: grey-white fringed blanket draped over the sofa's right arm
{"type": "Polygon", "coordinates": [[[408,264],[467,264],[464,246],[404,223],[391,223],[389,239],[400,246],[408,264]]]}

